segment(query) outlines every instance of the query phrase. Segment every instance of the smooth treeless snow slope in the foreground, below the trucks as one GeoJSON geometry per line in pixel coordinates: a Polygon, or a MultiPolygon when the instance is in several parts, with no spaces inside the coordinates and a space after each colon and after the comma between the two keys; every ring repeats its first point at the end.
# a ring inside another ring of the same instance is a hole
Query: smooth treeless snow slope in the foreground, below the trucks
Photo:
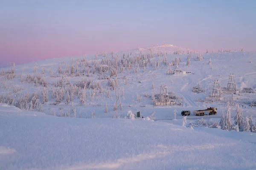
{"type": "Polygon", "coordinates": [[[2,104],[0,169],[256,168],[256,141],[247,142],[242,139],[256,139],[255,133],[217,130],[210,134],[198,130],[200,129],[191,130],[166,122],[62,118],[21,111],[2,104]],[[216,133],[225,135],[220,137],[216,133]],[[226,136],[227,133],[229,137],[226,136]],[[232,139],[232,136],[237,139],[232,139]]]}

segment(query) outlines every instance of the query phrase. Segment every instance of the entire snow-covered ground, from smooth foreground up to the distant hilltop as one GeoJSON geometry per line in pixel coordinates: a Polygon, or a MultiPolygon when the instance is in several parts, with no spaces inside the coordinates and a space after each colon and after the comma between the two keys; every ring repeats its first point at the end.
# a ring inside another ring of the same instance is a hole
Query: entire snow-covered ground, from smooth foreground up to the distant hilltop
{"type": "MultiPolygon", "coordinates": [[[[256,103],[255,93],[239,93],[233,95],[235,99],[231,99],[230,94],[222,94],[224,100],[215,102],[205,98],[212,91],[215,79],[219,80],[221,87],[227,87],[230,74],[235,75],[238,90],[252,88],[255,91],[256,52],[209,51],[202,54],[201,61],[198,61],[199,53],[191,51],[190,65],[186,65],[187,51],[190,52],[174,45],[159,45],[113,55],[98,54],[97,58],[96,55],[87,55],[16,65],[13,79],[1,72],[0,102],[27,110],[0,104],[0,169],[256,169],[256,133],[207,127],[191,130],[181,126],[183,116],[180,115],[183,110],[191,111],[187,117],[188,124],[202,117],[219,122],[221,112],[225,112],[226,102],[229,101],[232,118],[236,115],[235,104],[239,103],[243,106],[243,116],[252,115],[255,124],[256,108],[250,107],[251,103],[256,103]],[[176,52],[181,54],[173,54],[176,52]],[[143,60],[143,56],[147,57],[143,60]],[[193,74],[167,75],[168,65],[163,61],[171,63],[176,57],[181,61],[178,68],[173,68],[193,74]],[[78,68],[79,72],[85,69],[84,73],[72,76],[67,73],[66,79],[70,84],[56,87],[56,82],[58,84],[62,80],[58,67],[64,75],[67,65],[68,71],[71,70],[72,60],[75,72],[78,68]],[[93,74],[94,67],[106,64],[108,60],[118,63],[111,69],[117,70],[117,76],[113,78],[120,89],[122,110],[113,111],[116,91],[110,87],[108,80],[98,79],[97,69],[93,74]],[[121,61],[123,65],[120,65],[121,61]],[[137,63],[128,65],[127,61],[137,63]],[[43,70],[44,74],[41,74],[43,70]],[[39,80],[25,81],[29,76],[41,77],[49,83],[45,88],[48,102],[43,103],[44,87],[38,83],[39,80]],[[91,82],[96,87],[84,89],[84,104],[80,102],[83,90],[74,88],[80,82],[91,82]],[[192,91],[198,84],[204,93],[195,94],[192,91]],[[175,105],[151,105],[151,96],[159,94],[160,85],[167,85],[168,92],[173,92],[175,105]],[[64,99],[56,102],[56,97],[52,98],[53,92],[59,90],[60,95],[61,89],[65,93],[64,99]],[[75,91],[74,99],[69,104],[66,104],[67,91],[75,91]],[[31,107],[33,97],[41,105],[31,107]],[[26,104],[20,106],[17,104],[20,101],[26,104]],[[106,105],[108,113],[105,113],[106,105]],[[192,113],[207,107],[217,107],[217,114],[198,117],[192,113]],[[174,110],[177,111],[177,120],[174,110]],[[128,111],[140,111],[145,119],[123,119],[128,111]],[[76,118],[71,118],[75,112],[76,118]],[[58,117],[63,115],[66,117],[58,117]],[[84,119],[91,117],[97,119],[84,119]]],[[[3,71],[11,69],[4,68],[3,71]]]]}

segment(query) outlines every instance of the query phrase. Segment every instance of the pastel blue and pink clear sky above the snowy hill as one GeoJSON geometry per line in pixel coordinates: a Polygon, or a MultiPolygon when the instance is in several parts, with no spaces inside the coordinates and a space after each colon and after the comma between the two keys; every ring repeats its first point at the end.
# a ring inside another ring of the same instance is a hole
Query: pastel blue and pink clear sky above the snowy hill
{"type": "Polygon", "coordinates": [[[0,0],[0,65],[151,45],[256,51],[255,0],[0,0]]]}

